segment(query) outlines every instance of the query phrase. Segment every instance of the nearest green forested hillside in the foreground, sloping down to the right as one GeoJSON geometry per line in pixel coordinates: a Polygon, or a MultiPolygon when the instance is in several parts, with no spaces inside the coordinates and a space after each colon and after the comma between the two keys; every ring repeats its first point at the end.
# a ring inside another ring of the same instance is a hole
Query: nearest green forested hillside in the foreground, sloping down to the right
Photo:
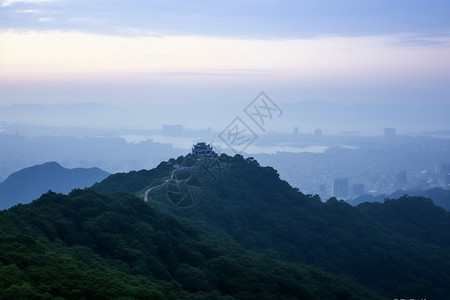
{"type": "Polygon", "coordinates": [[[249,252],[127,193],[49,192],[0,212],[0,299],[381,299],[249,252]]]}

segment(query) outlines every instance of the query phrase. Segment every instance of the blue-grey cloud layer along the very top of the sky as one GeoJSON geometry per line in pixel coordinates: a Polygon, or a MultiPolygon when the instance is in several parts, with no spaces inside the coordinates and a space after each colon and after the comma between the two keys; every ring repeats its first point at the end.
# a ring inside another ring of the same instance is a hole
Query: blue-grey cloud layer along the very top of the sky
{"type": "Polygon", "coordinates": [[[70,29],[116,35],[157,32],[167,35],[251,39],[310,38],[323,35],[356,37],[399,33],[440,35],[445,31],[449,34],[449,1],[400,2],[0,0],[2,6],[23,10],[45,4],[42,5],[45,9],[58,11],[60,16],[57,22],[45,26],[24,15],[8,16],[8,24],[2,26],[10,29],[70,29]]]}

